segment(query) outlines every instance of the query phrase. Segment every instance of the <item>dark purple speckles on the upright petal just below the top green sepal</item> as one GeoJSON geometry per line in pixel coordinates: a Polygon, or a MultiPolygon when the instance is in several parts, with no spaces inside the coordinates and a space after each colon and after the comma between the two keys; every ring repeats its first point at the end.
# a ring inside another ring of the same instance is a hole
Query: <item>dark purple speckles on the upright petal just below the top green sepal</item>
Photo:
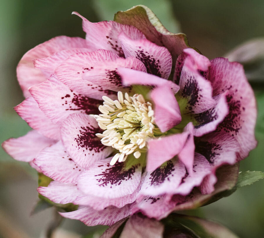
{"type": "Polygon", "coordinates": [[[161,77],[160,72],[160,61],[153,58],[153,55],[150,55],[144,50],[136,51],[136,58],[141,60],[141,62],[146,66],[147,72],[161,77]]]}

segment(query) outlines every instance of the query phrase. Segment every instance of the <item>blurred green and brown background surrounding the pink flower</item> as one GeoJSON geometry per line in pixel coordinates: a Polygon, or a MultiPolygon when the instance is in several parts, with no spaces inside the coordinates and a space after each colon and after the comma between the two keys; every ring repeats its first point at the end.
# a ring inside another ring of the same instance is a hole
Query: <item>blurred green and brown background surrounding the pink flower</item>
{"type": "MultiPolygon", "coordinates": [[[[209,59],[224,56],[238,44],[264,37],[263,0],[204,0],[204,1],[0,1],[0,141],[24,135],[30,130],[13,107],[23,100],[16,81],[16,65],[22,55],[35,45],[57,35],[80,36],[81,19],[71,15],[78,11],[92,22],[112,20],[114,13],[133,5],[151,8],[171,32],[183,32],[191,46],[197,47],[209,59]],[[177,19],[177,20],[176,20],[177,19]]],[[[260,43],[261,45],[261,43],[260,43]]],[[[259,45],[259,46],[260,46],[259,45]]],[[[256,137],[258,147],[241,162],[240,171],[264,171],[264,49],[258,57],[246,62],[249,78],[258,102],[256,137]]],[[[261,51],[261,52],[260,52],[261,51]]],[[[37,198],[36,172],[26,163],[18,162],[0,149],[0,237],[44,237],[54,211],[47,209],[30,215],[37,198]]],[[[239,237],[263,237],[263,181],[246,186],[228,198],[189,214],[221,222],[239,237]]],[[[102,227],[86,227],[81,222],[65,220],[62,228],[75,232],[58,233],[57,237],[98,237],[102,227]],[[98,233],[99,230],[99,233],[98,233]]],[[[64,231],[60,231],[64,232],[64,231]]]]}

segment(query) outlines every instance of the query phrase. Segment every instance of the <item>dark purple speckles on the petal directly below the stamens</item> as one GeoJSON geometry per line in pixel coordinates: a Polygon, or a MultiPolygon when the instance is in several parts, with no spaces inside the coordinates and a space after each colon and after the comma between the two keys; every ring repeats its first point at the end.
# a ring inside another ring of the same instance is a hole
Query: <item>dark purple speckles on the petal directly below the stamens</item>
{"type": "MultiPolygon", "coordinates": [[[[110,188],[112,185],[120,185],[122,181],[127,181],[128,179],[132,179],[132,175],[135,173],[137,169],[137,165],[133,165],[130,169],[124,170],[125,163],[116,163],[115,165],[107,165],[107,169],[102,168],[102,173],[94,175],[95,177],[100,176],[100,178],[96,179],[98,181],[99,186],[107,186],[110,184],[110,188]]],[[[99,166],[98,166],[99,167],[99,166]]]]}

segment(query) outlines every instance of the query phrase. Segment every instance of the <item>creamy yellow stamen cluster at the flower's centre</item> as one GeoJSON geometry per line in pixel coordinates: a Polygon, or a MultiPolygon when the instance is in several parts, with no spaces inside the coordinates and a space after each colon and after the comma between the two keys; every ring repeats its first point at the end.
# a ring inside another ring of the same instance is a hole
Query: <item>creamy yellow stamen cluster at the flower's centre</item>
{"type": "Polygon", "coordinates": [[[101,143],[119,151],[112,158],[110,165],[117,160],[123,162],[128,155],[135,158],[145,152],[146,139],[154,137],[154,111],[152,104],[146,102],[143,95],[135,94],[132,97],[121,91],[117,94],[118,100],[103,96],[103,105],[99,106],[102,114],[94,115],[103,133],[97,133],[101,143]]]}

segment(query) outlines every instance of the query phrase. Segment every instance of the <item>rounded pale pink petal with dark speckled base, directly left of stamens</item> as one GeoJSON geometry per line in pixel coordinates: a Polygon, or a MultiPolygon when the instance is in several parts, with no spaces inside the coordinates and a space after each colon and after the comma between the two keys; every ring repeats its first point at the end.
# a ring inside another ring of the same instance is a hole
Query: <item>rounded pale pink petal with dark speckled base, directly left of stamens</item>
{"type": "Polygon", "coordinates": [[[71,114],[62,123],[62,143],[72,160],[83,168],[106,158],[112,152],[113,148],[103,145],[96,133],[101,133],[101,129],[89,115],[71,114]]]}

